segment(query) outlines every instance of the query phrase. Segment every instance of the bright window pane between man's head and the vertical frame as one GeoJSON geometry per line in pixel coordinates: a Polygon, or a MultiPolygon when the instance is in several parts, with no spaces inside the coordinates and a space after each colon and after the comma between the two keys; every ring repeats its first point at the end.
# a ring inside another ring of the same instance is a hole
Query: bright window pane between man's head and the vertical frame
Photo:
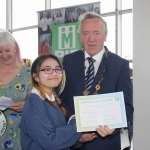
{"type": "Polygon", "coordinates": [[[103,19],[107,22],[107,28],[108,28],[108,35],[105,42],[105,46],[108,47],[108,49],[115,53],[116,47],[115,47],[115,39],[116,39],[116,32],[115,32],[115,16],[109,16],[109,17],[103,17],[103,19]]]}

